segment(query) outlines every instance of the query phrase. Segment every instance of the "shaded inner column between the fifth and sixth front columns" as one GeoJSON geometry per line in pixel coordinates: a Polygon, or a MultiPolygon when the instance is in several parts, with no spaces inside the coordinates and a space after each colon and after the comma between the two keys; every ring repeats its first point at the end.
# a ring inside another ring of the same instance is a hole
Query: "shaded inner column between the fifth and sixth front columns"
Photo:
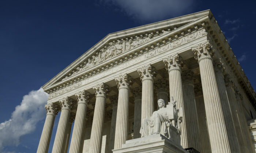
{"type": "Polygon", "coordinates": [[[131,90],[134,97],[133,139],[140,138],[142,87],[131,90]]]}

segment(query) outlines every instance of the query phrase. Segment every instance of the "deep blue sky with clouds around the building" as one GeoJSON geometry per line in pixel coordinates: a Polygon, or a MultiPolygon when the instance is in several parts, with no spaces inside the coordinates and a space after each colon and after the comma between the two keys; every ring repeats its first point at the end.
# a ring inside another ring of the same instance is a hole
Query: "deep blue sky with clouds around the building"
{"type": "Polygon", "coordinates": [[[255,0],[1,0],[0,152],[36,152],[47,99],[42,85],[107,34],[156,21],[211,9],[255,89],[255,5],[255,0]]]}

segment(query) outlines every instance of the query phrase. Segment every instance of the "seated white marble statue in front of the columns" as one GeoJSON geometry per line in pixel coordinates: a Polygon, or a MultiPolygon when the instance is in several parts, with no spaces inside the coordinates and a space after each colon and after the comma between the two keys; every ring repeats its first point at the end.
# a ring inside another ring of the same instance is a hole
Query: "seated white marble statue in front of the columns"
{"type": "Polygon", "coordinates": [[[173,97],[170,99],[171,102],[168,102],[166,106],[165,101],[159,99],[157,101],[159,110],[154,111],[152,116],[147,116],[142,120],[142,126],[140,128],[141,137],[162,134],[180,145],[182,107],[176,109],[176,101],[173,101],[173,97]]]}

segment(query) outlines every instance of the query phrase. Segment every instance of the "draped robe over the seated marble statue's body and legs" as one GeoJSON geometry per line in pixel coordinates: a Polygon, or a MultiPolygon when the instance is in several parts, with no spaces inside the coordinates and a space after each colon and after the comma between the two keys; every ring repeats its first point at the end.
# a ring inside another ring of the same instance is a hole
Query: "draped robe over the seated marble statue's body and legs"
{"type": "Polygon", "coordinates": [[[160,133],[167,137],[167,126],[169,123],[167,117],[166,107],[154,111],[151,117],[147,116],[142,121],[142,126],[140,128],[141,137],[149,136],[154,133],[160,133]]]}

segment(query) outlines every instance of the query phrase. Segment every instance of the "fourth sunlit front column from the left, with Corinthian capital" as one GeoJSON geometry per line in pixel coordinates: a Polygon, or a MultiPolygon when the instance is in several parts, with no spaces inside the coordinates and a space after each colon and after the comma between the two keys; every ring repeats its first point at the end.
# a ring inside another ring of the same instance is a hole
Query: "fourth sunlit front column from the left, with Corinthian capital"
{"type": "Polygon", "coordinates": [[[95,109],[93,115],[93,125],[91,127],[91,138],[89,153],[100,153],[102,144],[102,127],[104,123],[106,94],[108,86],[105,83],[93,87],[96,96],[95,109]]]}

